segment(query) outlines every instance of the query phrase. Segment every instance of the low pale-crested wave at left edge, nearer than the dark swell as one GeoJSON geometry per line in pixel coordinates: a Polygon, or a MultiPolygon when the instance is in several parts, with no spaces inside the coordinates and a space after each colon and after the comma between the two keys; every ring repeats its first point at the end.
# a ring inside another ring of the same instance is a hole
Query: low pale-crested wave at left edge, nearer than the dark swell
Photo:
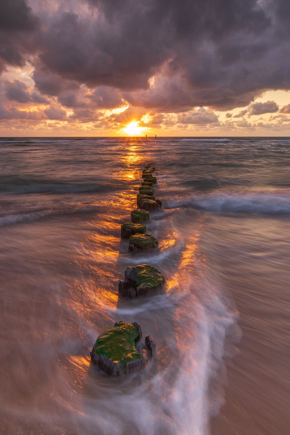
{"type": "Polygon", "coordinates": [[[78,204],[63,208],[35,209],[29,212],[25,210],[14,211],[0,216],[0,227],[25,222],[38,221],[43,218],[49,218],[60,215],[93,213],[99,211],[99,207],[93,204],[78,204]]]}

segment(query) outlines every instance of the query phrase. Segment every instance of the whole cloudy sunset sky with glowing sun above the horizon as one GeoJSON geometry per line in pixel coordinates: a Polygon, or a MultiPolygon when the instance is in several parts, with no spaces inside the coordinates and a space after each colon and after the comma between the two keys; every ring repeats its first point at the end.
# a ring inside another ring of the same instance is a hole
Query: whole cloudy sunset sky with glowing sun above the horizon
{"type": "Polygon", "coordinates": [[[0,136],[289,136],[289,0],[0,0],[0,136]]]}

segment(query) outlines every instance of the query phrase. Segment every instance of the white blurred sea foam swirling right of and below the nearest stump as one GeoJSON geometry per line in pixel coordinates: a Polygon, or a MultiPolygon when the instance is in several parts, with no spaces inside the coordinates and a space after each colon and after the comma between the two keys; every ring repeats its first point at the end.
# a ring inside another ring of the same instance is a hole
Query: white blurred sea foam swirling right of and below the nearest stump
{"type": "MultiPolygon", "coordinates": [[[[144,298],[138,304],[117,307],[117,310],[107,308],[116,321],[123,316],[146,316],[148,312],[151,318],[155,318],[159,313],[165,351],[160,348],[157,338],[157,370],[154,370],[153,363],[131,379],[127,378],[122,386],[110,383],[110,398],[92,395],[84,408],[85,418],[73,415],[81,431],[90,434],[94,431],[100,434],[110,432],[113,435],[123,435],[129,429],[142,435],[209,434],[210,418],[218,412],[224,400],[224,343],[230,328],[237,322],[237,313],[227,306],[214,280],[208,281],[205,275],[200,276],[197,288],[196,280],[191,278],[192,272],[190,264],[185,271],[188,279],[182,288],[169,294],[144,298]],[[175,338],[174,335],[167,337],[172,323],[175,338]],[[167,351],[173,351],[173,355],[164,360],[167,351]],[[138,379],[137,383],[134,378],[138,379]],[[214,394],[211,388],[213,379],[219,385],[218,393],[215,391],[214,394]],[[126,418],[123,412],[126,412],[126,418]]],[[[102,380],[97,385],[92,384],[90,378],[88,382],[94,389],[104,388],[100,385],[102,380]]]]}

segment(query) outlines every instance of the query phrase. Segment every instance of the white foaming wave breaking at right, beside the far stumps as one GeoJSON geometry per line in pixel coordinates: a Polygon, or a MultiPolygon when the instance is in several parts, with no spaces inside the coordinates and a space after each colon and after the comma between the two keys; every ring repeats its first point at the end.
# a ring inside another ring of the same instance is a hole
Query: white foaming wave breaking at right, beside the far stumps
{"type": "Polygon", "coordinates": [[[290,195],[273,193],[217,193],[194,195],[169,201],[168,208],[196,207],[202,210],[229,213],[290,214],[290,195]]]}

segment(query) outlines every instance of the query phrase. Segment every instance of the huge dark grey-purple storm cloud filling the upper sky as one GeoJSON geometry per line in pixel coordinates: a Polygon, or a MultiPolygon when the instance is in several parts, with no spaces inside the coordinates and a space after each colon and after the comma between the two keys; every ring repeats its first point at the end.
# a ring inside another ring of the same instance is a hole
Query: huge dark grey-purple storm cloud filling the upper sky
{"type": "Polygon", "coordinates": [[[289,0],[2,0],[1,12],[2,67],[30,58],[37,89],[66,107],[231,110],[290,88],[289,0]]]}

